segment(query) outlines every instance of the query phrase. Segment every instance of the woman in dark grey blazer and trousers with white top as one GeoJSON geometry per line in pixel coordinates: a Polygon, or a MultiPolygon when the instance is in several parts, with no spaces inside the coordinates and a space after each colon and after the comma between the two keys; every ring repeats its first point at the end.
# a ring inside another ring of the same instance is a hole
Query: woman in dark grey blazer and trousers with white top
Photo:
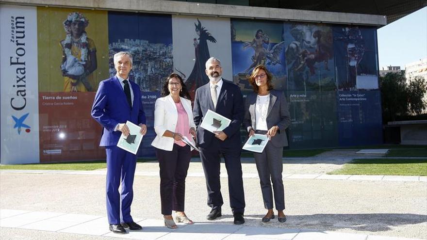
{"type": "Polygon", "coordinates": [[[285,129],[290,125],[288,104],[282,91],[274,90],[272,76],[263,65],[256,66],[249,77],[254,93],[246,97],[243,125],[249,137],[253,134],[266,134],[270,141],[262,153],[254,153],[264,207],[268,209],[263,222],[274,219],[273,192],[279,222],[285,222],[285,196],[282,180],[283,147],[288,145],[285,129]],[[271,177],[271,182],[270,182],[271,177]],[[271,188],[273,183],[273,191],[271,188]]]}

